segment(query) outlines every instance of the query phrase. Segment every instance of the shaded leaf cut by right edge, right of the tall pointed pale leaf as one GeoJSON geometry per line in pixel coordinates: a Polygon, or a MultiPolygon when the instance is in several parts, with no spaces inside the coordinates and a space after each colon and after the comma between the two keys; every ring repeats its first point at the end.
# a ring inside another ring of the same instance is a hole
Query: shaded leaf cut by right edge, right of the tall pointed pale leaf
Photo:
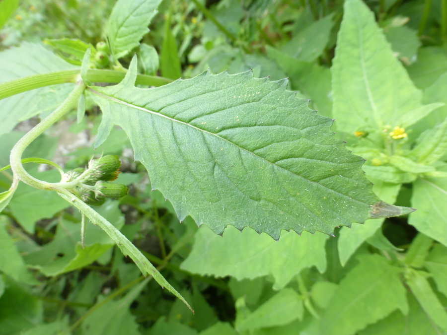
{"type": "Polygon", "coordinates": [[[447,72],[447,56],[439,47],[420,48],[415,63],[408,67],[408,74],[415,85],[424,89],[447,72]]]}

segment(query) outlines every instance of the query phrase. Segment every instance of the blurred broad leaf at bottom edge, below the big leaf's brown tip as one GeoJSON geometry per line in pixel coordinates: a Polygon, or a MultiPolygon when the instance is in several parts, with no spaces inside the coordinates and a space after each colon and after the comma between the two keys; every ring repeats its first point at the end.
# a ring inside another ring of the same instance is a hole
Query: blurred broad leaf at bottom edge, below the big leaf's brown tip
{"type": "Polygon", "coordinates": [[[399,269],[378,255],[362,255],[359,260],[332,296],[320,323],[320,334],[355,334],[397,309],[408,312],[399,269]]]}

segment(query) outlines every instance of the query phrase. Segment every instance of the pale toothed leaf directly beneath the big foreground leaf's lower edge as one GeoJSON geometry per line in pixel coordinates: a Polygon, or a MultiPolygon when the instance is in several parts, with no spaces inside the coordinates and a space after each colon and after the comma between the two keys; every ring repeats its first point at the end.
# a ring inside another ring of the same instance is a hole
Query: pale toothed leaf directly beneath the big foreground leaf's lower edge
{"type": "Polygon", "coordinates": [[[303,268],[316,266],[324,272],[327,238],[321,233],[298,236],[283,232],[276,242],[250,228],[240,232],[228,226],[221,237],[201,227],[195,235],[193,250],[181,268],[203,275],[231,275],[239,280],[271,274],[275,278],[274,289],[280,289],[303,268]]]}

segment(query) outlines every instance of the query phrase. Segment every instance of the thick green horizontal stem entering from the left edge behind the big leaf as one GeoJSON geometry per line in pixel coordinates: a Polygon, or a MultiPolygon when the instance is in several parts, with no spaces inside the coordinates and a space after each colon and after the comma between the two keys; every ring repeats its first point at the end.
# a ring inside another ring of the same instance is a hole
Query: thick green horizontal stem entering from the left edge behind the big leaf
{"type": "MultiPolygon", "coordinates": [[[[64,84],[68,82],[76,82],[76,78],[80,73],[80,69],[63,70],[56,72],[47,72],[33,74],[26,77],[6,81],[0,84],[0,100],[12,96],[14,94],[26,92],[35,88],[64,84]]],[[[123,80],[126,72],[89,69],[87,71],[87,79],[91,82],[107,82],[119,83],[123,80]]],[[[172,82],[171,79],[157,77],[153,75],[138,74],[136,84],[148,86],[162,86],[172,82]]]]}

